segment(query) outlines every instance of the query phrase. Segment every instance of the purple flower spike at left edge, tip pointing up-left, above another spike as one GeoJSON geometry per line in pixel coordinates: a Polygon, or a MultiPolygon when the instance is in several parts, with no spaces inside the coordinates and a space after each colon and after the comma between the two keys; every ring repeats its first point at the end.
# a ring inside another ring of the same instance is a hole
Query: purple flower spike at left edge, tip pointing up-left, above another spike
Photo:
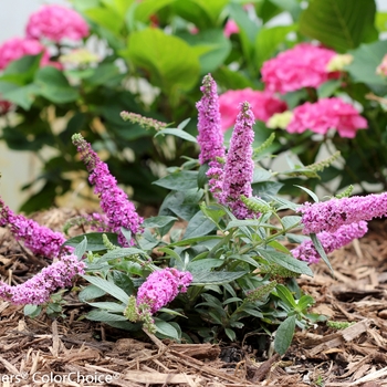
{"type": "MultiPolygon", "coordinates": [[[[17,240],[22,240],[24,245],[34,254],[46,258],[57,258],[61,245],[66,241],[61,232],[52,231],[48,227],[38,224],[34,220],[22,215],[14,215],[12,210],[0,199],[0,226],[10,224],[12,234],[17,240]]],[[[63,248],[70,252],[72,248],[63,248]]]]}

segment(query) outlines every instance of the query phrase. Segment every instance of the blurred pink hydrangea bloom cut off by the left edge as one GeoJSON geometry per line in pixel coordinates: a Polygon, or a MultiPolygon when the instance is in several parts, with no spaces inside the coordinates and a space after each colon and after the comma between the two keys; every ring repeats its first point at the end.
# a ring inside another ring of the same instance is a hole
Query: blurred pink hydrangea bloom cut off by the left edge
{"type": "Polygon", "coordinates": [[[34,39],[12,38],[0,46],[0,70],[22,56],[38,55],[41,52],[43,52],[41,65],[46,65],[50,56],[44,45],[34,39]]]}

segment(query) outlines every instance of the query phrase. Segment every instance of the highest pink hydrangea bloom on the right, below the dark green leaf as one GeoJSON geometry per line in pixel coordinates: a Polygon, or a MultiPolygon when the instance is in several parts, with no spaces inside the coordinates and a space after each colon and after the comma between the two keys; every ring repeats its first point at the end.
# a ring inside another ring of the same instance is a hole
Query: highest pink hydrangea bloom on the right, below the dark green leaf
{"type": "Polygon", "coordinates": [[[326,70],[335,55],[335,51],[312,43],[297,44],[263,63],[262,81],[266,90],[280,93],[318,87],[327,80],[338,76],[337,72],[326,70]]]}

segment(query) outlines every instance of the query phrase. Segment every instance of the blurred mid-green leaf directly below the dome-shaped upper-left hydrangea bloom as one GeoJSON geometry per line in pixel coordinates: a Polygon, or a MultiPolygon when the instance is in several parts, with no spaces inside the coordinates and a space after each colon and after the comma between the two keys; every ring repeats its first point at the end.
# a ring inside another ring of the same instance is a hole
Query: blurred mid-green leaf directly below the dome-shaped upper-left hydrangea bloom
{"type": "Polygon", "coordinates": [[[39,95],[55,104],[74,102],[77,91],[69,84],[61,71],[53,66],[44,66],[35,74],[34,83],[39,86],[39,95]]]}

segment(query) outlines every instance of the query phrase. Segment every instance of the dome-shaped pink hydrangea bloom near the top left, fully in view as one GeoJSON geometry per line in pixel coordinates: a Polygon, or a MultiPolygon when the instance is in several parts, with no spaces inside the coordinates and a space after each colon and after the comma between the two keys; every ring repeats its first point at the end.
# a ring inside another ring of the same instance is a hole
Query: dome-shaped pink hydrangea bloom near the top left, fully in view
{"type": "Polygon", "coordinates": [[[44,6],[32,13],[27,24],[27,36],[61,42],[79,41],[88,35],[88,25],[74,10],[61,6],[44,6]]]}

